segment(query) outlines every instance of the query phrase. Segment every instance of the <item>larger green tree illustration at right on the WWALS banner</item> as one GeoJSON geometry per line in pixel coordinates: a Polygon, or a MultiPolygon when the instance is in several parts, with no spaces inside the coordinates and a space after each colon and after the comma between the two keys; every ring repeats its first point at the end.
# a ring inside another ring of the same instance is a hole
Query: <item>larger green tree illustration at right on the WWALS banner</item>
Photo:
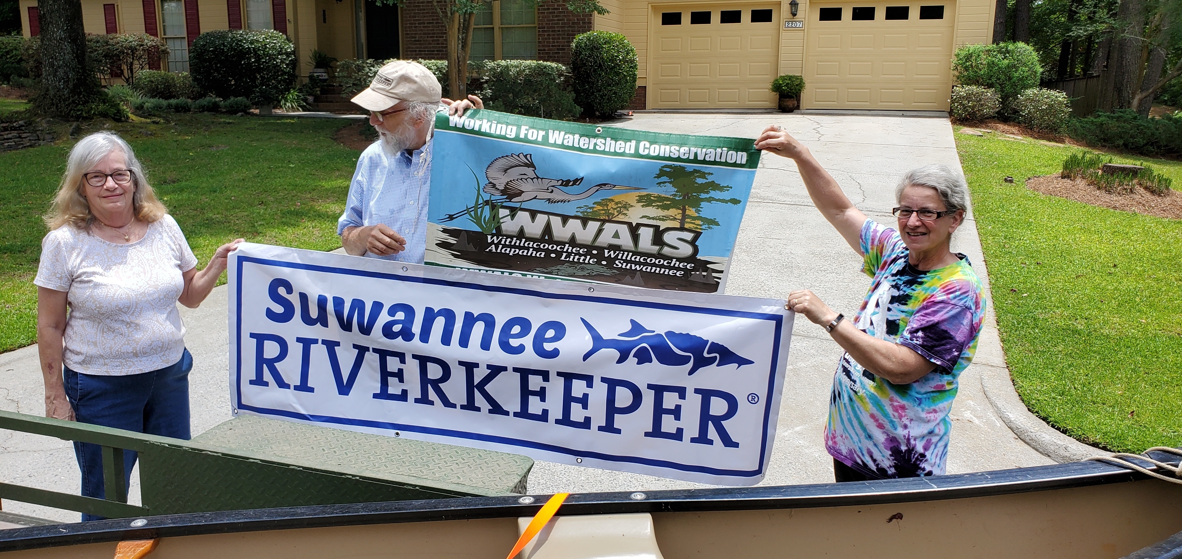
{"type": "Polygon", "coordinates": [[[719,226],[719,221],[702,215],[702,206],[708,203],[741,203],[738,199],[719,199],[710,194],[730,190],[726,184],[719,184],[708,178],[714,175],[702,169],[688,169],[682,165],[661,165],[661,170],[654,175],[658,187],[671,189],[671,194],[642,194],[637,196],[642,208],[652,208],[668,212],[662,215],[645,215],[643,219],[652,221],[676,221],[677,227],[693,228],[697,230],[713,229],[719,226]]]}

